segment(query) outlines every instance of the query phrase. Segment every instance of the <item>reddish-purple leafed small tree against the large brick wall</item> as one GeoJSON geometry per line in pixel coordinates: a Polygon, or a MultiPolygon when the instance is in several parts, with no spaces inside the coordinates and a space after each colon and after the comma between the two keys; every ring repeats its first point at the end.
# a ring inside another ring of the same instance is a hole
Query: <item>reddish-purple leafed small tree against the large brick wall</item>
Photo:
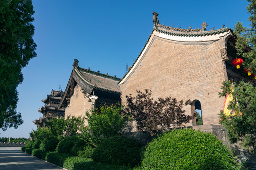
{"type": "MultiPolygon", "coordinates": [[[[138,130],[147,130],[154,136],[171,127],[185,126],[192,119],[192,116],[185,114],[183,101],[177,102],[177,99],[171,97],[153,101],[151,91],[146,89],[145,93],[138,90],[136,92],[136,97],[131,94],[126,96],[124,111],[136,122],[138,130]]],[[[185,102],[185,105],[188,104],[191,104],[190,100],[185,102]]]]}

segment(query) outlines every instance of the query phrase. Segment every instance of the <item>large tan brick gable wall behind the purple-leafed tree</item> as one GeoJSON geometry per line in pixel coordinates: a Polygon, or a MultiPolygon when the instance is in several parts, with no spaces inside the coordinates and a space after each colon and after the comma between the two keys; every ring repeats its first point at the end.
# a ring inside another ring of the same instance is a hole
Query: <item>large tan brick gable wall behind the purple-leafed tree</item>
{"type": "MultiPolygon", "coordinates": [[[[142,59],[120,84],[122,102],[125,103],[126,95],[136,95],[136,90],[145,89],[152,91],[155,100],[168,96],[184,101],[199,100],[203,124],[219,124],[224,98],[219,98],[218,92],[227,80],[220,49],[225,48],[228,35],[209,43],[182,43],[159,34],[153,32],[142,59]]],[[[190,105],[183,109],[186,114],[192,112],[190,105]]]]}

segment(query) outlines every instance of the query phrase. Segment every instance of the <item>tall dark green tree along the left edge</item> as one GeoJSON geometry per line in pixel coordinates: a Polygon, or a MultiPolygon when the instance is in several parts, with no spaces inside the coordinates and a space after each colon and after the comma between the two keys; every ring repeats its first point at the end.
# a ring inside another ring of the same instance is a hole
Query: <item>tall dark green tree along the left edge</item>
{"type": "Polygon", "coordinates": [[[0,0],[0,128],[17,128],[23,123],[17,113],[17,86],[21,69],[36,57],[33,41],[34,14],[31,0],[0,0]]]}

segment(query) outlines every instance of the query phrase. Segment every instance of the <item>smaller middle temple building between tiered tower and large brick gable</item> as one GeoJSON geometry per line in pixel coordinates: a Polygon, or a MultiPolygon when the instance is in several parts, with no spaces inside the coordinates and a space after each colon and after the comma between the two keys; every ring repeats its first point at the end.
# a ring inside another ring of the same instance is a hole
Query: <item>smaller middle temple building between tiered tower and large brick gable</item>
{"type": "Polygon", "coordinates": [[[68,116],[85,116],[85,112],[101,105],[121,103],[120,78],[80,68],[74,60],[73,70],[58,108],[68,116]]]}

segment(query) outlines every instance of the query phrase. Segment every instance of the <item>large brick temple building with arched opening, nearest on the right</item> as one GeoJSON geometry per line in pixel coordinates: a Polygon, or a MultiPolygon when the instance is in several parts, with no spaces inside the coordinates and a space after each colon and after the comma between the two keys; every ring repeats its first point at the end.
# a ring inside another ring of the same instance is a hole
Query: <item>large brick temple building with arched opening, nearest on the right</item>
{"type": "MultiPolygon", "coordinates": [[[[200,112],[203,125],[219,125],[218,114],[223,109],[224,98],[219,97],[222,82],[252,80],[243,68],[231,62],[236,59],[236,37],[230,28],[206,30],[201,28],[175,28],[161,25],[153,12],[152,33],[133,65],[119,82],[121,100],[136,95],[136,90],[152,91],[153,99],[172,97],[192,105],[184,106],[186,114],[200,112]]],[[[196,119],[191,122],[196,126],[196,119]]],[[[188,125],[189,126],[189,125],[188,125]]],[[[136,129],[133,129],[136,130],[136,129]]]]}

